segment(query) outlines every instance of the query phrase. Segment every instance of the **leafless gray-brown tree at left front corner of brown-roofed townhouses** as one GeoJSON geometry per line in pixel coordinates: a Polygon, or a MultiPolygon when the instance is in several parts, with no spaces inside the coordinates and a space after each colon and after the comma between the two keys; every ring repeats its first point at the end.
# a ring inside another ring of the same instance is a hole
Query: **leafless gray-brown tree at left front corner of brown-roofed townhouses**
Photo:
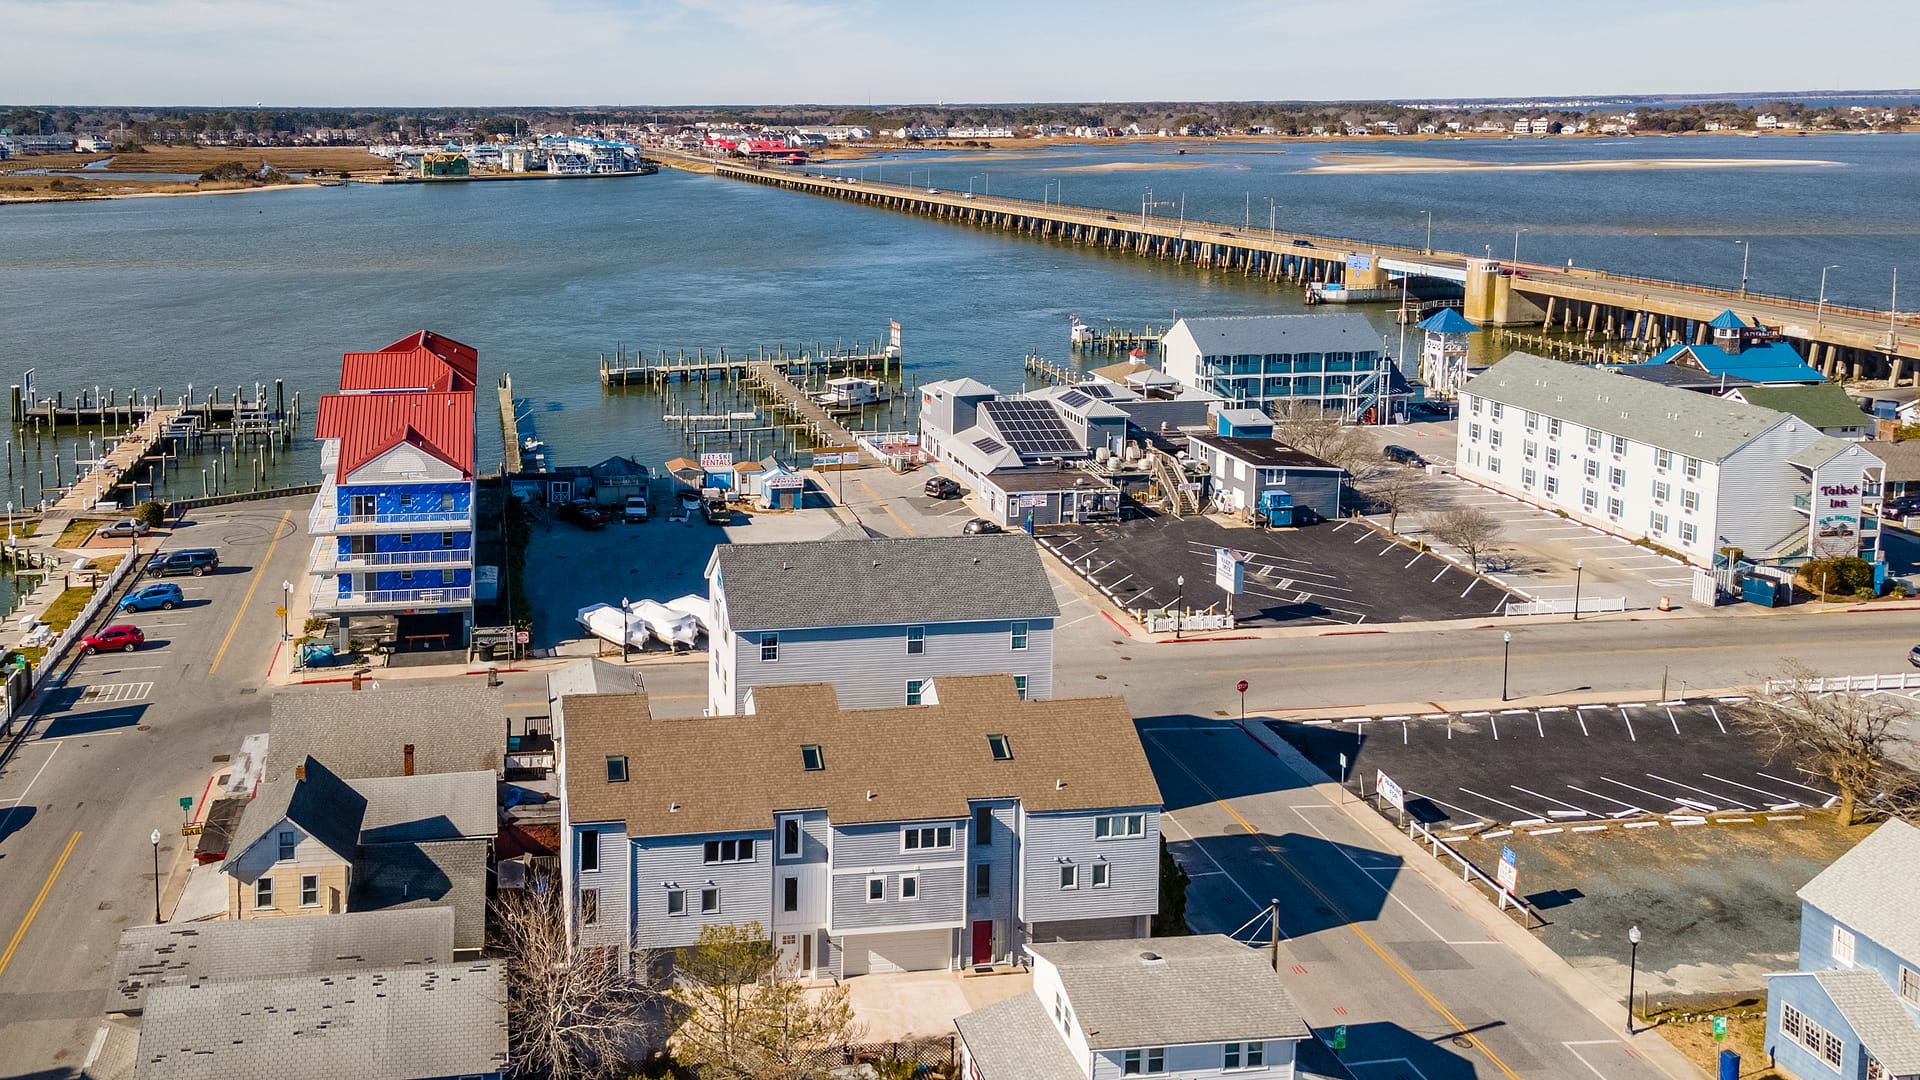
{"type": "Polygon", "coordinates": [[[495,944],[507,967],[507,1026],[520,1076],[603,1076],[643,1034],[651,994],[605,951],[566,932],[559,886],[501,890],[495,944]]]}

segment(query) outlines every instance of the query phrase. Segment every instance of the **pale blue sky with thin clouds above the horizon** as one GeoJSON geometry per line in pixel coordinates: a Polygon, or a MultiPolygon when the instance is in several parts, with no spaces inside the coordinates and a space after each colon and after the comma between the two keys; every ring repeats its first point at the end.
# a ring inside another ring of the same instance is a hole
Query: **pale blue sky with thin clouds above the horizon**
{"type": "Polygon", "coordinates": [[[1920,85],[1912,0],[0,0],[0,102],[1425,100],[1920,85]],[[1874,31],[1880,29],[1880,33],[1874,31]]]}

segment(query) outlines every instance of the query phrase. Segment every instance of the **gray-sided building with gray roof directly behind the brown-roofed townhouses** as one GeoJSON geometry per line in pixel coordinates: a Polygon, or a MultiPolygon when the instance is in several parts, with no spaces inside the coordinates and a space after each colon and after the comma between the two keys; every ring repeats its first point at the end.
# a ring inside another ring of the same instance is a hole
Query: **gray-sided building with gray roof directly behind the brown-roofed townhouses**
{"type": "Polygon", "coordinates": [[[755,686],[831,682],[849,709],[920,705],[952,675],[1054,690],[1054,601],[1029,536],[722,544],[707,711],[751,711],[755,686]]]}

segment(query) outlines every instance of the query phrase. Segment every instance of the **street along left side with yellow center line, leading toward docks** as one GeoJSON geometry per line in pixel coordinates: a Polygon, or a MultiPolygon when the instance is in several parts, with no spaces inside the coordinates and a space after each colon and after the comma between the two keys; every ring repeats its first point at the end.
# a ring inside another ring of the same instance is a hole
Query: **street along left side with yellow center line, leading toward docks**
{"type": "MultiPolygon", "coordinates": [[[[209,509],[169,542],[211,546],[221,573],[177,580],[186,605],[111,617],[144,650],[73,663],[65,692],[0,769],[0,1074],[73,1076],[104,1020],[113,945],[154,919],[154,846],[171,874],[180,798],[213,755],[265,730],[259,692],[280,644],[280,582],[307,555],[305,500],[209,509]],[[298,505],[296,505],[298,503],[298,505]]],[[[144,580],[144,578],[140,578],[144,580]]],[[[102,619],[106,623],[106,619],[102,619]]]]}

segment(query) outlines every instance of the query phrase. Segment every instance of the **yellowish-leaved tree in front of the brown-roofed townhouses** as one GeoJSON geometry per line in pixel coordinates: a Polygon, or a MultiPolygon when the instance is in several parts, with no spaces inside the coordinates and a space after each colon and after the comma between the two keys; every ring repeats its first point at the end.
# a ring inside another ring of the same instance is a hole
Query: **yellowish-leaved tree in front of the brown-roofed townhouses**
{"type": "Polygon", "coordinates": [[[856,1038],[847,988],[801,986],[758,922],[703,926],[674,963],[668,1045],[703,1080],[810,1080],[856,1038]]]}

